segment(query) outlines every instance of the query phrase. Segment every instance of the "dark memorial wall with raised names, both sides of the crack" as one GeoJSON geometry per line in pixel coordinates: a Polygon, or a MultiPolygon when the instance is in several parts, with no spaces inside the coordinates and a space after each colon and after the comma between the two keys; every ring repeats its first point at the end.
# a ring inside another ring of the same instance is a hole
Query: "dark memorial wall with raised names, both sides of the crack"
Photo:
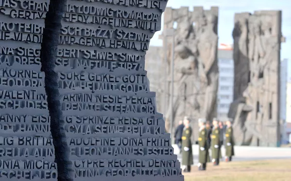
{"type": "MultiPolygon", "coordinates": [[[[0,181],[56,181],[40,43],[49,0],[0,0],[0,181]]],[[[144,69],[166,0],[68,0],[56,54],[74,181],[182,181],[144,69]]]]}

